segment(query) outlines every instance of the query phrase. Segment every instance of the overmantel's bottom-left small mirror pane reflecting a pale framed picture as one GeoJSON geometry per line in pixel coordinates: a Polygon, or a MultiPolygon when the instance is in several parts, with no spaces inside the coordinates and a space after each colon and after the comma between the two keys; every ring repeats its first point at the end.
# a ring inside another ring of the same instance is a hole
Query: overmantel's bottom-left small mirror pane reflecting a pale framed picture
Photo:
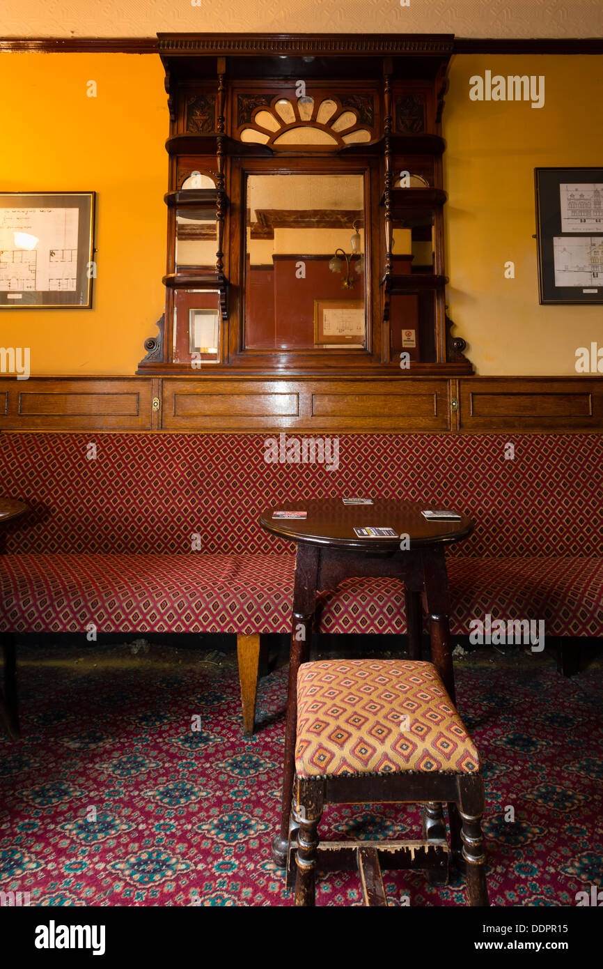
{"type": "Polygon", "coordinates": [[[174,292],[173,359],[190,362],[193,370],[220,362],[220,292],[176,290],[174,292]]]}

